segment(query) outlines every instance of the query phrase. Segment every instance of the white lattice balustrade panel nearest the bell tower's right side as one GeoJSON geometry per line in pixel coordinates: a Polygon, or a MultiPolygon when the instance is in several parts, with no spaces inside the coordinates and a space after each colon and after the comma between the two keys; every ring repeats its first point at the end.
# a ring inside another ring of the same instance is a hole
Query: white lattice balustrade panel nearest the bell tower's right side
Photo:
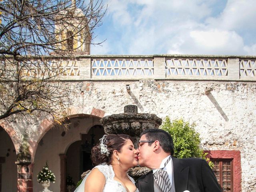
{"type": "Polygon", "coordinates": [[[93,76],[152,76],[153,59],[93,59],[93,76]]]}

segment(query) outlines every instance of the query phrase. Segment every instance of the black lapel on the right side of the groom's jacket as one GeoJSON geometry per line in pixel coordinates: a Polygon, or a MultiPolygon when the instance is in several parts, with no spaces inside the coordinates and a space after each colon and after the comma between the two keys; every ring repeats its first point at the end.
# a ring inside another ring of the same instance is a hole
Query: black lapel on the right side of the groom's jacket
{"type": "Polygon", "coordinates": [[[180,162],[177,158],[172,158],[174,184],[176,192],[188,190],[189,167],[180,162]]]}

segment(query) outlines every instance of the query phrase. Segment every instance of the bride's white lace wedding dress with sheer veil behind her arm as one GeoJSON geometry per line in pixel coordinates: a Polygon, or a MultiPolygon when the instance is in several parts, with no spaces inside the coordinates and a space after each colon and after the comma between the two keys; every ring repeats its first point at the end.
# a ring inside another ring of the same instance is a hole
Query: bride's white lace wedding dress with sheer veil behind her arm
{"type": "MultiPolygon", "coordinates": [[[[120,182],[114,180],[115,173],[111,165],[100,164],[94,168],[98,168],[98,170],[100,170],[100,172],[102,172],[102,174],[105,176],[106,182],[103,188],[103,192],[127,192],[125,187],[120,182]]],[[[78,186],[78,188],[76,188],[74,192],[84,192],[85,181],[89,174],[86,175],[82,183],[78,186]]],[[[128,174],[127,176],[135,184],[133,178],[131,178],[128,174]]],[[[136,192],[139,192],[139,190],[137,189],[136,192]]]]}

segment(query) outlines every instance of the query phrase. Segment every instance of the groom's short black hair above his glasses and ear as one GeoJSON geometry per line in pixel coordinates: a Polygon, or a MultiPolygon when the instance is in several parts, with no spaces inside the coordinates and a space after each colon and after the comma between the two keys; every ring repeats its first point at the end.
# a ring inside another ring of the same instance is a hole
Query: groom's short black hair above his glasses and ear
{"type": "MultiPolygon", "coordinates": [[[[147,140],[150,141],[158,140],[164,152],[171,153],[172,156],[174,155],[174,145],[172,136],[165,130],[147,129],[142,132],[141,136],[142,135],[145,135],[147,140]]],[[[148,145],[151,146],[152,143],[148,143],[148,145]]]]}

